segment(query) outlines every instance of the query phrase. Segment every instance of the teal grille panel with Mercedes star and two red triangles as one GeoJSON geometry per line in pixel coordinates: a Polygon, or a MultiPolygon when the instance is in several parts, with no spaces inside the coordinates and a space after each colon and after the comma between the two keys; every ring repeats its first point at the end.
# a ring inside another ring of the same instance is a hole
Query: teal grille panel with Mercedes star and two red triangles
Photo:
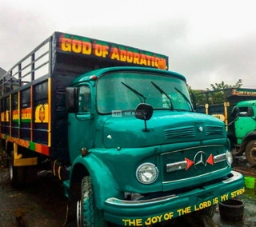
{"type": "Polygon", "coordinates": [[[162,153],[163,184],[200,179],[202,176],[210,176],[210,173],[226,169],[226,154],[222,149],[222,145],[204,145],[162,153]]]}

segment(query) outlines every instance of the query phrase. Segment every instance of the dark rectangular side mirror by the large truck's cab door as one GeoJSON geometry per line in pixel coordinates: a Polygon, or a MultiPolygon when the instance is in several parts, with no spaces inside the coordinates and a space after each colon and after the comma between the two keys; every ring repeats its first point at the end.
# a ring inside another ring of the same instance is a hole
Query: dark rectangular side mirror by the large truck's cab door
{"type": "Polygon", "coordinates": [[[66,111],[68,113],[78,113],[78,95],[79,88],[67,87],[66,88],[66,111]]]}

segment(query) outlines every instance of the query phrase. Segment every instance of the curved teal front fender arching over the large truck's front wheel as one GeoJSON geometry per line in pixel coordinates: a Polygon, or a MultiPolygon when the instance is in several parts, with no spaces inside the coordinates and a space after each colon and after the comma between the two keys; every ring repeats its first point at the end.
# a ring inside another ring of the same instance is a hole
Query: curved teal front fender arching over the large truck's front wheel
{"type": "Polygon", "coordinates": [[[85,157],[76,157],[70,176],[75,176],[75,167],[78,165],[82,165],[91,177],[94,186],[95,205],[98,209],[103,208],[103,203],[107,198],[121,196],[118,184],[114,180],[110,170],[94,153],[89,153],[85,157]]]}

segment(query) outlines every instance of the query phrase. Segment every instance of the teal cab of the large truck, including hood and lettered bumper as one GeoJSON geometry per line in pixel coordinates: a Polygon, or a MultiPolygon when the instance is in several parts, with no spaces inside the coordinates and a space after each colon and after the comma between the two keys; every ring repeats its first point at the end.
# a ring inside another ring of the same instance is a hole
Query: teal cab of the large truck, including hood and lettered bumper
{"type": "Polygon", "coordinates": [[[194,113],[181,74],[94,70],[75,78],[66,98],[72,166],[71,181],[64,181],[67,196],[79,173],[82,188],[94,185],[94,204],[87,191],[77,198],[81,225],[152,225],[202,210],[212,215],[224,194],[232,197],[227,182],[240,181],[243,191],[241,174],[231,170],[224,123],[194,113]],[[84,220],[87,206],[99,212],[84,220]]]}

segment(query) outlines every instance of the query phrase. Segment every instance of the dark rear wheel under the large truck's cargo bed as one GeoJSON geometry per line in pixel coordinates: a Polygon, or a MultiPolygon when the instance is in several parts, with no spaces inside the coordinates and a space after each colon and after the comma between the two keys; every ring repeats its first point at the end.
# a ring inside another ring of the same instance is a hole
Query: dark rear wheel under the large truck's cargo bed
{"type": "Polygon", "coordinates": [[[14,152],[8,155],[9,179],[13,187],[24,185],[26,182],[26,169],[24,166],[14,166],[14,152]]]}

